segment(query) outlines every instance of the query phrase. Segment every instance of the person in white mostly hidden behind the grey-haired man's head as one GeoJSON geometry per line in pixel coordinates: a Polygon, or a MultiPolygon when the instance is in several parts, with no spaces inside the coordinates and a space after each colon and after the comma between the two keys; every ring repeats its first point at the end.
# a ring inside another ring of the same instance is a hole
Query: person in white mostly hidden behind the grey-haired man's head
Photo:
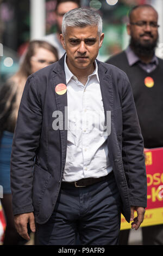
{"type": "Polygon", "coordinates": [[[80,0],[57,0],[57,4],[55,6],[55,19],[57,23],[57,32],[52,33],[49,35],[46,35],[43,37],[43,40],[48,41],[52,45],[55,46],[55,48],[58,51],[59,58],[64,55],[65,50],[62,47],[61,41],[60,41],[60,34],[61,32],[61,27],[62,27],[62,19],[65,13],[67,11],[79,8],[80,7],[80,0]]]}

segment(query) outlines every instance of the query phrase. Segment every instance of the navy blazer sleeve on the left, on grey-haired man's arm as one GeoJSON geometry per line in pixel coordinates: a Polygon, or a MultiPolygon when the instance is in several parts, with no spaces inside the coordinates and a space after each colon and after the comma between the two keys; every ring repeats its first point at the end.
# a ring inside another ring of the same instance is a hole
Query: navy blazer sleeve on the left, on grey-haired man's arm
{"type": "Polygon", "coordinates": [[[11,192],[14,215],[33,211],[34,159],[39,147],[42,110],[33,76],[24,87],[11,153],[11,192]]]}

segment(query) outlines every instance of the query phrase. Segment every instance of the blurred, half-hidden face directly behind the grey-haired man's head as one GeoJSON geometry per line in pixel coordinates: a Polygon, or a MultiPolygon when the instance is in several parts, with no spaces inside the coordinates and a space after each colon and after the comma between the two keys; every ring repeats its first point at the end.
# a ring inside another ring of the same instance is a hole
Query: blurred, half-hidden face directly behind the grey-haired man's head
{"type": "Polygon", "coordinates": [[[74,2],[64,2],[60,3],[58,5],[57,11],[56,11],[56,20],[57,20],[57,26],[58,26],[58,32],[61,34],[62,31],[62,19],[65,13],[67,11],[70,11],[72,9],[79,8],[77,3],[74,2]]]}

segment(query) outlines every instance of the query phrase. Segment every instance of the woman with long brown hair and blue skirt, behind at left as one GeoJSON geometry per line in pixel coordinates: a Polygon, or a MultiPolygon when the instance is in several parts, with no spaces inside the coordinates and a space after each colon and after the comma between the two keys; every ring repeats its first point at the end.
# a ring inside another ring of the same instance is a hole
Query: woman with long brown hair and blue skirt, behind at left
{"type": "Polygon", "coordinates": [[[0,91],[0,185],[3,186],[1,202],[7,220],[4,245],[17,245],[22,240],[14,227],[10,190],[11,145],[22,92],[30,74],[55,61],[58,61],[58,52],[54,46],[46,41],[30,41],[20,69],[0,91]]]}

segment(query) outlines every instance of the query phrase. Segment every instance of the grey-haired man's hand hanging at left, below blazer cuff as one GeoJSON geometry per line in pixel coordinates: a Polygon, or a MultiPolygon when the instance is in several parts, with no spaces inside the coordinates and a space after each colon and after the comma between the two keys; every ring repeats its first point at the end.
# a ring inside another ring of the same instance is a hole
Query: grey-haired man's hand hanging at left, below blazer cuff
{"type": "Polygon", "coordinates": [[[18,234],[20,234],[24,239],[30,240],[30,237],[28,235],[28,230],[27,230],[27,223],[29,222],[30,230],[32,232],[36,231],[33,212],[15,215],[14,222],[15,222],[15,227],[18,234]]]}

